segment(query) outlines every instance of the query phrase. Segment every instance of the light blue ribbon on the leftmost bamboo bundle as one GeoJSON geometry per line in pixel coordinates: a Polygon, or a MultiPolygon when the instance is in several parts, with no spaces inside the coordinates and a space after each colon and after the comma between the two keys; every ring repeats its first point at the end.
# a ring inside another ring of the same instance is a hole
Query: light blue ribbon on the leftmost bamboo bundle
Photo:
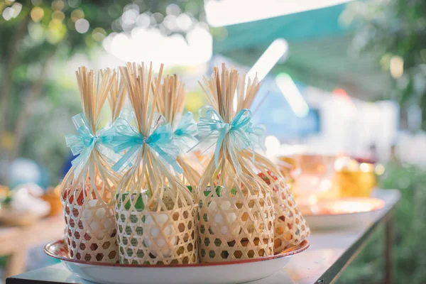
{"type": "MultiPolygon", "coordinates": [[[[110,146],[110,133],[109,131],[103,131],[101,129],[98,131],[98,135],[95,136],[92,133],[84,114],[77,114],[76,116],[73,116],[72,122],[77,129],[78,135],[67,134],[65,135],[65,141],[67,142],[67,146],[70,147],[72,155],[80,154],[71,162],[72,166],[75,168],[75,177],[77,178],[89,160],[90,154],[95,147],[100,146],[100,144],[104,144],[104,146],[107,147],[110,146]]],[[[107,151],[102,150],[102,148],[98,148],[98,150],[104,155],[107,155],[107,158],[111,157],[107,151]]]]}

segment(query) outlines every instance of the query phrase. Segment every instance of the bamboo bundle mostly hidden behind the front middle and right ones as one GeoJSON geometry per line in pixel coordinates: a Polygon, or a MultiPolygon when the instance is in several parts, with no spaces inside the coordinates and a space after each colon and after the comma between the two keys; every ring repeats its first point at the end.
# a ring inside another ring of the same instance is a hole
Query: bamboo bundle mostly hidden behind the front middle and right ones
{"type": "MultiPolygon", "coordinates": [[[[172,126],[173,142],[178,148],[186,152],[190,149],[191,143],[197,143],[197,139],[194,138],[195,133],[197,133],[197,125],[192,119],[192,113],[187,112],[182,116],[185,98],[185,84],[182,80],[177,75],[166,76],[160,86],[156,109],[164,116],[165,121],[172,126]]],[[[187,162],[182,151],[177,158],[177,162],[183,170],[180,177],[185,185],[195,189],[200,182],[200,173],[187,162]]]]}

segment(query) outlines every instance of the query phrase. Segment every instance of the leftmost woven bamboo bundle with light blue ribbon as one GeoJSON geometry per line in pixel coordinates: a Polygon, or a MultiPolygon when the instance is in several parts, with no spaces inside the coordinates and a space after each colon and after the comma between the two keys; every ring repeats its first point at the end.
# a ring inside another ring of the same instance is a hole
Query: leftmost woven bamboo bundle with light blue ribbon
{"type": "Polygon", "coordinates": [[[79,135],[65,138],[72,153],[80,155],[72,160],[61,184],[67,246],[73,259],[116,263],[119,253],[111,196],[119,176],[103,155],[103,136],[98,129],[116,72],[95,73],[80,67],[76,75],[83,112],[72,119],[79,135]]]}

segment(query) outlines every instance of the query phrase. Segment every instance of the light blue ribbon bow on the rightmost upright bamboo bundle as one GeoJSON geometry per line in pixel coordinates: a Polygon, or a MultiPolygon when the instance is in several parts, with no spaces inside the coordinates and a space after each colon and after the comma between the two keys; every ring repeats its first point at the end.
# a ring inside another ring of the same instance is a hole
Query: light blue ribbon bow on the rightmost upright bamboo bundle
{"type": "Polygon", "coordinates": [[[212,107],[203,107],[200,109],[200,120],[197,124],[198,132],[202,141],[205,139],[217,139],[216,148],[214,149],[214,163],[219,166],[220,149],[223,147],[224,138],[229,135],[229,155],[237,173],[241,173],[241,165],[236,158],[236,150],[243,151],[246,148],[253,149],[263,136],[261,128],[253,127],[251,123],[251,111],[249,109],[241,109],[234,119],[228,124],[212,107]],[[205,114],[202,111],[205,109],[205,114]]]}

